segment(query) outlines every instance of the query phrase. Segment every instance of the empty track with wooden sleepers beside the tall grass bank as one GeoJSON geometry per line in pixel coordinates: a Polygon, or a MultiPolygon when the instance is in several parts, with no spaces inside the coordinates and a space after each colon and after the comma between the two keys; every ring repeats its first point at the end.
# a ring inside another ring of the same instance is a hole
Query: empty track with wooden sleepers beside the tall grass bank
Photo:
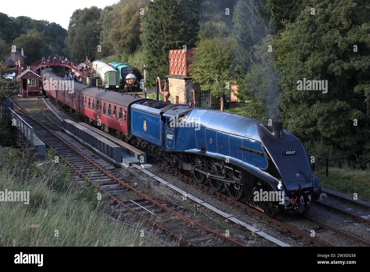
{"type": "MultiPolygon", "coordinates": [[[[154,199],[131,187],[129,182],[117,177],[88,158],[41,122],[32,118],[15,103],[34,133],[52,148],[56,154],[66,159],[67,164],[77,173],[79,182],[88,181],[111,199],[115,211],[131,212],[145,219],[155,228],[171,236],[172,239],[190,246],[247,246],[248,241],[239,236],[227,237],[196,220],[192,220],[182,207],[160,199],[154,199]]],[[[67,137],[67,136],[66,136],[67,137]]],[[[124,214],[128,215],[128,213],[124,214]]]]}

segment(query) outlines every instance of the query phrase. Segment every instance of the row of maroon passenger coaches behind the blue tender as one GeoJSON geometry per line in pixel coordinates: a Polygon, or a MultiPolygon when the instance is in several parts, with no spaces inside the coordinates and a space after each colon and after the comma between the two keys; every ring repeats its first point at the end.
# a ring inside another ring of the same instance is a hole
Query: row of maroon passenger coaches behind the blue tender
{"type": "MultiPolygon", "coordinates": [[[[101,122],[102,130],[109,128],[118,134],[129,134],[131,129],[130,107],[141,100],[135,95],[107,91],[70,80],[64,80],[50,68],[41,71],[46,95],[60,107],[70,109],[77,117],[88,124],[101,122]]],[[[117,135],[119,138],[122,135],[117,135]]]]}

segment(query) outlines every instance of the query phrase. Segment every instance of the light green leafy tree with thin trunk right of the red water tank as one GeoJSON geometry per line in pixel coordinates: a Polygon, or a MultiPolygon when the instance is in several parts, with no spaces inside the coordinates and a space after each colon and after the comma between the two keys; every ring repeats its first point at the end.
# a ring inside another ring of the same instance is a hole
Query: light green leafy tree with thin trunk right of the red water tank
{"type": "Polygon", "coordinates": [[[207,38],[194,50],[190,75],[201,91],[219,97],[223,111],[223,95],[230,93],[234,41],[231,38],[207,38]]]}

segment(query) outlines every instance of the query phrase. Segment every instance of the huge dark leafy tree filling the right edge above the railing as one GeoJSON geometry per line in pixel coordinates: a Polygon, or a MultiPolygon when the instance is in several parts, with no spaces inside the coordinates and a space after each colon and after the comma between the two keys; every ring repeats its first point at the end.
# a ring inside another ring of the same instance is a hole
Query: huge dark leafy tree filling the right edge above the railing
{"type": "Polygon", "coordinates": [[[310,0],[272,44],[284,78],[279,107],[286,129],[310,151],[363,168],[370,167],[369,12],[360,0],[310,0]],[[297,90],[304,78],[327,84],[297,90]]]}

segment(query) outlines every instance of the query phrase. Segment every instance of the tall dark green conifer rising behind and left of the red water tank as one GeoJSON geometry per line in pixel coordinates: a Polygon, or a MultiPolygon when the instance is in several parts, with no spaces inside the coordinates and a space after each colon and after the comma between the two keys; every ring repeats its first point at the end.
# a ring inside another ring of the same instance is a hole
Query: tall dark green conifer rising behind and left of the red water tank
{"type": "Polygon", "coordinates": [[[153,0],[142,18],[147,87],[169,74],[168,51],[195,46],[199,29],[197,0],[153,0]]]}

